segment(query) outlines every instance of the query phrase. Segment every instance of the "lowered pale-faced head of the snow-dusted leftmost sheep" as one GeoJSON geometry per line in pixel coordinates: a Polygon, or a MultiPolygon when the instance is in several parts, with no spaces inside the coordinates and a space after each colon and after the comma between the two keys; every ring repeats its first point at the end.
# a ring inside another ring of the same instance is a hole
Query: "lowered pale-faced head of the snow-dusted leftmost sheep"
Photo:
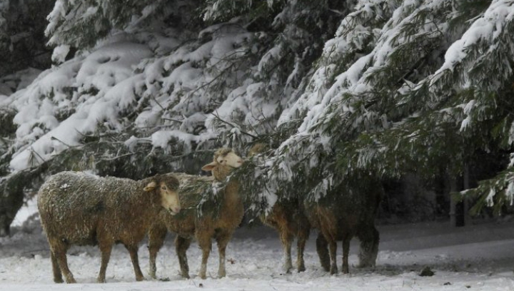
{"type": "Polygon", "coordinates": [[[178,198],[178,180],[174,175],[156,175],[144,188],[145,191],[156,190],[161,198],[161,206],[176,215],[181,210],[178,198]]]}

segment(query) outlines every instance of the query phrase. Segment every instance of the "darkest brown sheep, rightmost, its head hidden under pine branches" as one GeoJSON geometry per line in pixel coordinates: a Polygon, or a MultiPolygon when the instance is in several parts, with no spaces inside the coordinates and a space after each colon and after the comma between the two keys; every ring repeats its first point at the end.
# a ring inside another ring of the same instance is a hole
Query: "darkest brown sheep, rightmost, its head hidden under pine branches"
{"type": "Polygon", "coordinates": [[[383,197],[383,187],[380,181],[369,175],[357,175],[357,189],[347,189],[341,184],[317,202],[304,200],[308,220],[322,234],[316,240],[321,265],[328,265],[330,261],[331,274],[338,272],[338,240],[343,241],[342,271],[348,274],[348,252],[353,236],[361,240],[358,267],[371,267],[376,263],[380,235],[375,227],[375,217],[383,197]]]}

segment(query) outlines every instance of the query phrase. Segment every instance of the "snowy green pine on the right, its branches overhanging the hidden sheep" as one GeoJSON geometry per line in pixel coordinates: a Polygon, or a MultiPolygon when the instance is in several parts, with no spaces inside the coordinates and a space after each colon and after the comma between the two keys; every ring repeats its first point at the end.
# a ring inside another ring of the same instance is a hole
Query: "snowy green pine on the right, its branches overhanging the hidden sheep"
{"type": "MultiPolygon", "coordinates": [[[[324,56],[351,51],[354,15],[387,21],[373,30],[371,50],[341,72],[327,76],[321,66],[315,73],[315,90],[295,106],[303,118],[298,133],[277,150],[269,170],[276,185],[314,173],[318,183],[307,195],[318,198],[356,170],[433,177],[443,168],[458,175],[478,153],[511,152],[512,1],[359,1],[354,8],[324,56]],[[386,9],[370,9],[377,5],[386,9]]],[[[511,203],[509,173],[473,192],[511,203]]]]}

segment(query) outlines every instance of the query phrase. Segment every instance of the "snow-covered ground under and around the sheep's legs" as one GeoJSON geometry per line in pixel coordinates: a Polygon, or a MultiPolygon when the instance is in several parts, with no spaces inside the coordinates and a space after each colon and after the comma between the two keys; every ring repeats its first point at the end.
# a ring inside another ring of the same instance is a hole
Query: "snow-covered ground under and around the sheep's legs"
{"type": "MultiPolygon", "coordinates": [[[[208,264],[208,279],[196,277],[200,251],[188,251],[191,280],[178,275],[172,236],[157,259],[158,278],[136,282],[128,252],[117,245],[107,269],[107,283],[96,284],[99,250],[74,247],[69,252],[76,285],[54,284],[48,245],[39,223],[0,238],[0,290],[514,290],[514,223],[481,223],[451,228],[448,223],[380,226],[381,246],[376,268],[359,270],[358,245],[351,245],[351,274],[329,275],[319,267],[316,233],[306,247],[307,271],[284,275],[282,250],[276,233],[266,227],[241,228],[228,246],[227,277],[216,279],[216,245],[208,264]],[[425,267],[435,272],[421,277],[425,267]]],[[[341,245],[339,245],[341,247],[341,245]]],[[[341,249],[338,250],[341,265],[341,249]]],[[[148,270],[146,242],[139,250],[141,268],[148,270]]]]}

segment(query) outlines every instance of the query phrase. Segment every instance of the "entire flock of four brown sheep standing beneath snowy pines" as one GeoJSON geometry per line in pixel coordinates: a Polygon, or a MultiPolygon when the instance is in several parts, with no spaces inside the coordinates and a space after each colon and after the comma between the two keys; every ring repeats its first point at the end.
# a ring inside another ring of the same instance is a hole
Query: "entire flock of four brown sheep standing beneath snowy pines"
{"type": "MultiPolygon", "coordinates": [[[[248,158],[262,155],[267,146],[257,144],[248,158]]],[[[148,236],[149,276],[156,279],[156,256],[167,233],[175,235],[176,257],[183,278],[189,278],[186,251],[193,241],[201,248],[198,277],[205,279],[212,240],[218,247],[218,277],[226,276],[226,247],[245,215],[245,193],[233,175],[244,161],[231,148],[219,148],[207,175],[166,173],[142,180],[100,177],[83,172],[51,175],[38,193],[38,209],[49,242],[54,282],[74,283],[66,260],[71,245],[98,245],[101,267],[98,282],[106,282],[106,267],[115,243],[129,251],[136,280],[144,280],[138,263],[138,245],[148,236]],[[64,280],[63,280],[64,276],[64,280]]],[[[318,230],[316,250],[321,266],[336,273],[336,242],[343,242],[342,271],[348,272],[351,238],[361,240],[359,267],[373,267],[379,234],[374,220],[383,195],[379,180],[363,176],[366,187],[333,188],[319,201],[278,199],[259,218],[274,228],[283,244],[286,272],[293,269],[291,245],[298,240],[298,272],[306,270],[303,249],[311,229],[318,230]]],[[[169,256],[170,254],[161,254],[169,256]]],[[[173,260],[166,257],[166,260],[173,260]]]]}

